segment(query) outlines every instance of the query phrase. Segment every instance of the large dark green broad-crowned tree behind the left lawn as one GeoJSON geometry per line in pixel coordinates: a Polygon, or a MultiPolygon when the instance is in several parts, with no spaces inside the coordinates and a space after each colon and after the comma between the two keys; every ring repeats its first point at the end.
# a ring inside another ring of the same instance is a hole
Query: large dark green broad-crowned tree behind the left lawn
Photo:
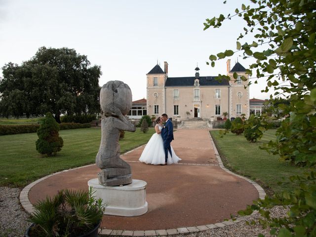
{"type": "Polygon", "coordinates": [[[2,67],[0,115],[94,114],[100,111],[100,66],[90,66],[75,49],[41,47],[20,66],[2,67]]]}

